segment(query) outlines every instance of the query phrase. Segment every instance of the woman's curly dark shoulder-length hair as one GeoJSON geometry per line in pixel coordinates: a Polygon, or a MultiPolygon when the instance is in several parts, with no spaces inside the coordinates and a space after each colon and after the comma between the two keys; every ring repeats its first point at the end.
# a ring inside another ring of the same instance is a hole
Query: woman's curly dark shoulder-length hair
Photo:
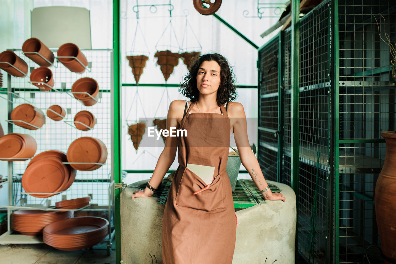
{"type": "Polygon", "coordinates": [[[190,71],[184,76],[184,82],[180,84],[179,92],[185,97],[190,98],[191,102],[198,101],[199,90],[197,88],[196,76],[200,65],[204,61],[216,61],[221,69],[221,82],[216,98],[217,105],[223,105],[226,102],[233,101],[237,96],[235,75],[232,73],[232,67],[228,65],[227,59],[218,53],[204,54],[195,58],[190,71]]]}

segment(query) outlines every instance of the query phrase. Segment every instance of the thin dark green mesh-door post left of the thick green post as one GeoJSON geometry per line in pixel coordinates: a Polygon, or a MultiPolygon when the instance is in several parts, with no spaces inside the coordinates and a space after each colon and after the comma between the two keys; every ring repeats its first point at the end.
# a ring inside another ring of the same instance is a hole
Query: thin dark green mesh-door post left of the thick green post
{"type": "Polygon", "coordinates": [[[283,98],[283,68],[284,68],[284,32],[279,32],[278,52],[278,182],[283,181],[283,120],[284,120],[284,98],[283,98]]]}

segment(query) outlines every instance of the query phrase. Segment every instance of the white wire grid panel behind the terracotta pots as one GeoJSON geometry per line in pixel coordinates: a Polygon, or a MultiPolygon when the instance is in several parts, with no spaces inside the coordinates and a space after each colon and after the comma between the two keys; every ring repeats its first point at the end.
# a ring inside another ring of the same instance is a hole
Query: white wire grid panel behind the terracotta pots
{"type": "MultiPolygon", "coordinates": [[[[23,58],[29,66],[29,73],[34,68],[37,68],[34,62],[25,57],[21,50],[14,50],[14,52],[23,58]]],[[[56,50],[53,50],[56,56],[56,50]]],[[[109,184],[111,173],[111,96],[110,90],[112,85],[112,69],[111,69],[111,50],[82,50],[88,61],[91,63],[91,72],[85,71],[83,74],[70,72],[65,66],[59,62],[55,62],[55,67],[50,67],[53,72],[55,80],[54,88],[61,92],[54,91],[40,91],[36,86],[28,83],[29,77],[17,78],[11,77],[11,89],[13,92],[19,94],[19,97],[13,98],[12,107],[27,103],[23,100],[27,99],[32,105],[37,108],[48,108],[50,105],[61,105],[67,113],[67,121],[72,121],[74,115],[81,110],[88,110],[97,119],[97,124],[92,130],[81,131],[63,121],[53,121],[46,118],[46,124],[38,130],[27,130],[16,125],[12,125],[12,132],[30,134],[37,142],[36,154],[42,151],[57,149],[67,152],[67,149],[72,141],[82,136],[91,136],[98,138],[105,143],[108,150],[108,157],[105,165],[93,171],[77,171],[76,181],[72,186],[59,195],[54,195],[48,199],[36,198],[30,195],[21,195],[19,193],[17,199],[13,201],[14,205],[21,205],[21,197],[23,203],[26,205],[42,204],[47,205],[47,200],[51,200],[51,205],[62,200],[62,195],[67,195],[67,199],[74,199],[92,194],[91,203],[98,205],[109,205],[109,184]],[[73,96],[70,96],[66,91],[70,92],[71,86],[78,78],[91,77],[99,84],[99,103],[91,107],[82,105],[73,96]]],[[[6,102],[6,101],[4,101],[6,102]]],[[[46,110],[43,110],[44,114],[46,110]]],[[[9,131],[11,132],[11,131],[9,131]]],[[[13,174],[23,174],[29,161],[13,162],[13,174]]]]}

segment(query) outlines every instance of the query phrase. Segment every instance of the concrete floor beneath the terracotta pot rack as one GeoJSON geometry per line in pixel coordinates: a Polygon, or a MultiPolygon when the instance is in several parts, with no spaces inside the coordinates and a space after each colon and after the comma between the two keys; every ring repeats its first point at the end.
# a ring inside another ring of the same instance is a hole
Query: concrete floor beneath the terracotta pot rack
{"type": "MultiPolygon", "coordinates": [[[[114,241],[113,246],[114,248],[114,241]]],[[[92,249],[61,251],[46,244],[0,245],[1,264],[114,264],[116,252],[107,256],[105,243],[92,249]]]]}

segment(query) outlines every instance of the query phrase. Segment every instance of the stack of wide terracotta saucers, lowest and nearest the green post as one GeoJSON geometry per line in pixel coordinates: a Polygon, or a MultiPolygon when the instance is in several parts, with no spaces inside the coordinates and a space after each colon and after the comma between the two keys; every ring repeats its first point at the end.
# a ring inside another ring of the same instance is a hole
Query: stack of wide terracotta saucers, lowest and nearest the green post
{"type": "Polygon", "coordinates": [[[44,243],[60,250],[93,247],[109,234],[109,221],[94,216],[79,216],[54,222],[43,230],[44,243]]]}

